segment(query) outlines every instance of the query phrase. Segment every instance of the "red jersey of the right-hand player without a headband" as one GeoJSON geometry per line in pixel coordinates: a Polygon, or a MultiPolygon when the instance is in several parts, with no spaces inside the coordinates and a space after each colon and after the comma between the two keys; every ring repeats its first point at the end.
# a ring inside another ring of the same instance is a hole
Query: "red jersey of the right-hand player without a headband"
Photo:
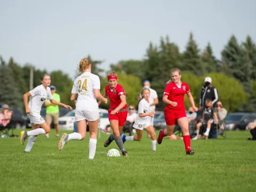
{"type": "Polygon", "coordinates": [[[181,109],[184,108],[184,95],[190,92],[190,88],[187,83],[181,83],[178,87],[175,83],[171,82],[166,85],[164,95],[168,95],[168,100],[177,102],[177,106],[167,104],[166,107],[170,109],[181,109]]]}

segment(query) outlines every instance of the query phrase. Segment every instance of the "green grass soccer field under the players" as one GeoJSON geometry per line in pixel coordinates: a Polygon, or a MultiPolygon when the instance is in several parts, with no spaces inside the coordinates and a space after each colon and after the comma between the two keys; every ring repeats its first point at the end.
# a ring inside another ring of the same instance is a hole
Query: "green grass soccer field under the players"
{"type": "Polygon", "coordinates": [[[256,141],[247,140],[248,131],[191,141],[193,156],[185,155],[182,140],[169,138],[153,152],[144,134],[140,142],[125,142],[129,157],[107,157],[117,146],[104,148],[108,135],[101,133],[93,160],[88,159],[88,133],[59,151],[54,132],[49,139],[40,135],[30,153],[23,153],[19,138],[0,138],[0,191],[256,190],[256,141]]]}

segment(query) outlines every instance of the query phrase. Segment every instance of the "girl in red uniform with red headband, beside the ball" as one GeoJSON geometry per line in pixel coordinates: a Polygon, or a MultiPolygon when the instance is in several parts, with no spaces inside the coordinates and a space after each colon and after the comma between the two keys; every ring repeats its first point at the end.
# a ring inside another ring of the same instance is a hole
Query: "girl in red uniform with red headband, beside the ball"
{"type": "Polygon", "coordinates": [[[125,92],[123,87],[117,83],[117,75],[114,71],[108,74],[108,84],[105,87],[104,97],[108,97],[110,100],[108,119],[114,134],[111,134],[107,141],[105,141],[104,147],[108,147],[115,140],[123,156],[128,156],[120,135],[127,117],[125,92]]]}

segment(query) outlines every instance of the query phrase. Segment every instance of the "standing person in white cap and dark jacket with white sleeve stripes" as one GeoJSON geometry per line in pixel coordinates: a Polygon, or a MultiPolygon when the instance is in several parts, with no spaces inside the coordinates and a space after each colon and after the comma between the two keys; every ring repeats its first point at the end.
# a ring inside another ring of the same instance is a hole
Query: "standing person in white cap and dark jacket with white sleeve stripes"
{"type": "Polygon", "coordinates": [[[217,89],[212,85],[211,77],[205,77],[204,79],[204,86],[202,87],[201,97],[199,100],[200,109],[205,109],[206,99],[210,99],[212,101],[213,106],[215,106],[215,103],[219,99],[217,89]]]}

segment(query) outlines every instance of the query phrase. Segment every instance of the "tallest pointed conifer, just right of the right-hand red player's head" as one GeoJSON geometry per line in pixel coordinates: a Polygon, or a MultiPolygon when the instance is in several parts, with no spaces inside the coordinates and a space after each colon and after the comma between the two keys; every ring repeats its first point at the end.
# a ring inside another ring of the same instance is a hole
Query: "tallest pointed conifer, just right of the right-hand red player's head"
{"type": "Polygon", "coordinates": [[[196,75],[203,75],[202,61],[199,55],[198,46],[190,33],[188,44],[185,52],[183,53],[183,71],[190,71],[196,75]]]}

